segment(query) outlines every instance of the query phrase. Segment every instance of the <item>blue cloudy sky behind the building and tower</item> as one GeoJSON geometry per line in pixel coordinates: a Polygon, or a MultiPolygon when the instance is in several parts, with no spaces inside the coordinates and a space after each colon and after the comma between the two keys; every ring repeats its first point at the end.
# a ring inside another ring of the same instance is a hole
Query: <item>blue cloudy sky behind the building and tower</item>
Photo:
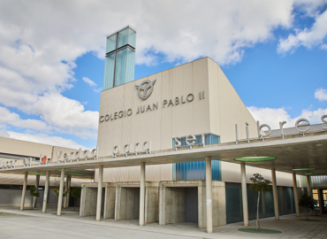
{"type": "Polygon", "coordinates": [[[0,1],[0,136],[96,145],[106,35],[137,29],[135,79],[209,57],[255,120],[327,114],[327,0],[0,1]]]}

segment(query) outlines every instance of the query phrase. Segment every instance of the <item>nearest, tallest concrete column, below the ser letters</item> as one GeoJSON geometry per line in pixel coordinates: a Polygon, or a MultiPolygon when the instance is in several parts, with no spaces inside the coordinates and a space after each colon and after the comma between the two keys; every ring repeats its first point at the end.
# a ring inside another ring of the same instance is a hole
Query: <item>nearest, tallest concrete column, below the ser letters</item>
{"type": "Polygon", "coordinates": [[[211,156],[206,157],[207,233],[212,233],[211,156]]]}

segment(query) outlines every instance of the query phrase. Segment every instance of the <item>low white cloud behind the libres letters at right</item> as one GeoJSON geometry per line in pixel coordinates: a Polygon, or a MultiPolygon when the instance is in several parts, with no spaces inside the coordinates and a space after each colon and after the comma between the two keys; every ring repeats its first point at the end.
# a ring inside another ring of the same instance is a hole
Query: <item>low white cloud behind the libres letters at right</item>
{"type": "Polygon", "coordinates": [[[298,117],[292,118],[285,108],[258,108],[255,106],[247,107],[255,120],[259,120],[260,124],[267,124],[272,129],[279,128],[279,122],[286,121],[285,127],[295,127],[296,120],[305,118],[311,124],[320,124],[321,117],[327,114],[327,109],[318,109],[316,111],[302,110],[298,117]]]}

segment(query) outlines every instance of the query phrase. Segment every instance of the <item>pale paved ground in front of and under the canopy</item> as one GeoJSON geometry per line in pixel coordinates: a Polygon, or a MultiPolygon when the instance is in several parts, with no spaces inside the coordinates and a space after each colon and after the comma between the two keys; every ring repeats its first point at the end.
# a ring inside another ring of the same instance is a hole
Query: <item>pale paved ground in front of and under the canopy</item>
{"type": "MultiPolygon", "coordinates": [[[[19,211],[18,208],[0,208],[0,238],[327,238],[327,215],[310,216],[309,221],[294,214],[262,219],[262,228],[281,231],[277,235],[256,235],[238,231],[242,223],[215,227],[213,234],[207,234],[205,229],[199,229],[194,223],[180,223],[159,226],[151,223],[144,227],[138,226],[138,220],[102,220],[95,217],[79,216],[73,208],[63,210],[57,217],[56,208],[49,208],[47,213],[39,210],[19,211]],[[16,215],[8,214],[14,213],[16,215]],[[17,215],[18,214],[18,215],[17,215]]],[[[255,220],[250,221],[250,227],[255,227],[255,220]]]]}

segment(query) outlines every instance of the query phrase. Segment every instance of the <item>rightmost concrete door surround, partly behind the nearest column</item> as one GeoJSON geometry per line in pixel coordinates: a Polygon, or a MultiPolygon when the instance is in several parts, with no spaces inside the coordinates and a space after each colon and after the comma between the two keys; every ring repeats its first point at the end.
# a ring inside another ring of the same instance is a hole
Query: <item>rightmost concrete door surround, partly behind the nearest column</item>
{"type": "MultiPolygon", "coordinates": [[[[207,227],[205,181],[160,181],[159,224],[185,221],[185,188],[198,188],[199,228],[207,227]]],[[[226,225],[224,182],[212,181],[212,224],[213,227],[226,225]]]]}

